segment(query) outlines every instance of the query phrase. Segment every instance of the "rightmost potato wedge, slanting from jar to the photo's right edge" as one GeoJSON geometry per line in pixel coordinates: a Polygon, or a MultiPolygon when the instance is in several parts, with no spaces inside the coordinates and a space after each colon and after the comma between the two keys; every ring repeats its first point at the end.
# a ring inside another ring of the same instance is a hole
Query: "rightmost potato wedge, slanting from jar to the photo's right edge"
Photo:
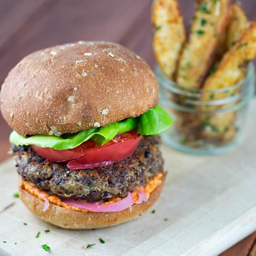
{"type": "MultiPolygon", "coordinates": [[[[227,88],[221,93],[203,93],[202,101],[219,100],[232,94],[239,93],[240,88],[229,88],[239,81],[242,81],[246,75],[247,65],[246,63],[253,60],[256,57],[256,22],[252,22],[251,25],[245,30],[240,40],[227,52],[216,73],[209,76],[205,81],[203,89],[222,89],[227,88]]],[[[232,106],[234,103],[230,103],[232,106]]],[[[227,104],[225,105],[227,106],[227,104]]],[[[204,106],[202,110],[215,110],[222,106],[204,106]]],[[[202,123],[208,120],[210,126],[216,127],[215,130],[209,128],[203,131],[204,137],[217,137],[221,136],[222,140],[230,140],[231,137],[236,135],[236,113],[218,113],[215,115],[203,114],[201,116],[202,123]]]]}

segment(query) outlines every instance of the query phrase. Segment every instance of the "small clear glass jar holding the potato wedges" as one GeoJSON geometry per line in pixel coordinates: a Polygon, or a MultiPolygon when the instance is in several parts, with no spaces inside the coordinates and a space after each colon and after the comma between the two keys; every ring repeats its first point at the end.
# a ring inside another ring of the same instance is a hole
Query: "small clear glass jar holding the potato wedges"
{"type": "Polygon", "coordinates": [[[155,74],[159,104],[174,119],[162,135],[168,145],[190,154],[214,155],[242,141],[248,103],[254,95],[252,62],[243,81],[217,90],[184,88],[164,76],[159,67],[155,74]]]}

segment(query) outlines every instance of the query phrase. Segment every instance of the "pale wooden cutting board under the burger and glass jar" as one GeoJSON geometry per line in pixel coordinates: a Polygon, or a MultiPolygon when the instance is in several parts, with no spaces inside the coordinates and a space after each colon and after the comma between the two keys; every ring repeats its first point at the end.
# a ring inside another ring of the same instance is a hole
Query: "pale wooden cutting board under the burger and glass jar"
{"type": "Polygon", "coordinates": [[[256,100],[245,141],[233,152],[194,156],[167,146],[162,152],[169,172],[153,208],[135,221],[85,231],[59,229],[34,217],[13,197],[14,162],[1,164],[0,255],[211,256],[256,230],[256,100]],[[50,254],[41,248],[45,243],[50,254]],[[96,245],[82,249],[88,243],[96,245]]]}

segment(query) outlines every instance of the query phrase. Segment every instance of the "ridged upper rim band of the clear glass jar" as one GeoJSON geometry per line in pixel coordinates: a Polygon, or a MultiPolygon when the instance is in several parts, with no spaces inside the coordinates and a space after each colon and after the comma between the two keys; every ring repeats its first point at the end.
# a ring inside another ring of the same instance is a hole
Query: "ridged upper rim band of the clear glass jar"
{"type": "Polygon", "coordinates": [[[255,70],[253,62],[249,62],[248,70],[245,78],[233,86],[229,86],[222,89],[208,90],[208,89],[197,89],[197,88],[185,88],[177,85],[174,81],[168,79],[164,74],[162,74],[160,68],[157,66],[155,68],[155,74],[160,85],[159,98],[160,101],[165,101],[169,106],[176,108],[181,111],[193,112],[193,113],[221,113],[221,112],[231,112],[236,111],[243,107],[251,97],[254,95],[254,80],[255,80],[255,70]],[[171,94],[185,96],[186,105],[181,105],[177,102],[167,99],[167,94],[162,94],[161,88],[169,91],[171,94]],[[237,93],[237,88],[239,88],[239,93],[237,93]],[[223,94],[227,93],[226,97],[221,97],[216,100],[203,101],[202,94],[223,94]],[[234,92],[232,94],[232,92],[234,92]],[[231,94],[230,94],[231,93],[231,94]],[[189,105],[189,107],[188,107],[189,105]],[[196,106],[216,106],[213,109],[198,109],[196,106]],[[194,108],[192,108],[192,107],[194,108]]]}

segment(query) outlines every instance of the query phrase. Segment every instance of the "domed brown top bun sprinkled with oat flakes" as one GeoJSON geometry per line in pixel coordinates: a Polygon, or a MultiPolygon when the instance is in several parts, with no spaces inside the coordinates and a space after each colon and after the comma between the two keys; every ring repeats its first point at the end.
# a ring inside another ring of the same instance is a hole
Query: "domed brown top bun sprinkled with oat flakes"
{"type": "Polygon", "coordinates": [[[150,67],[119,44],[79,41],[29,54],[7,75],[1,112],[21,135],[75,133],[157,104],[150,67]]]}

